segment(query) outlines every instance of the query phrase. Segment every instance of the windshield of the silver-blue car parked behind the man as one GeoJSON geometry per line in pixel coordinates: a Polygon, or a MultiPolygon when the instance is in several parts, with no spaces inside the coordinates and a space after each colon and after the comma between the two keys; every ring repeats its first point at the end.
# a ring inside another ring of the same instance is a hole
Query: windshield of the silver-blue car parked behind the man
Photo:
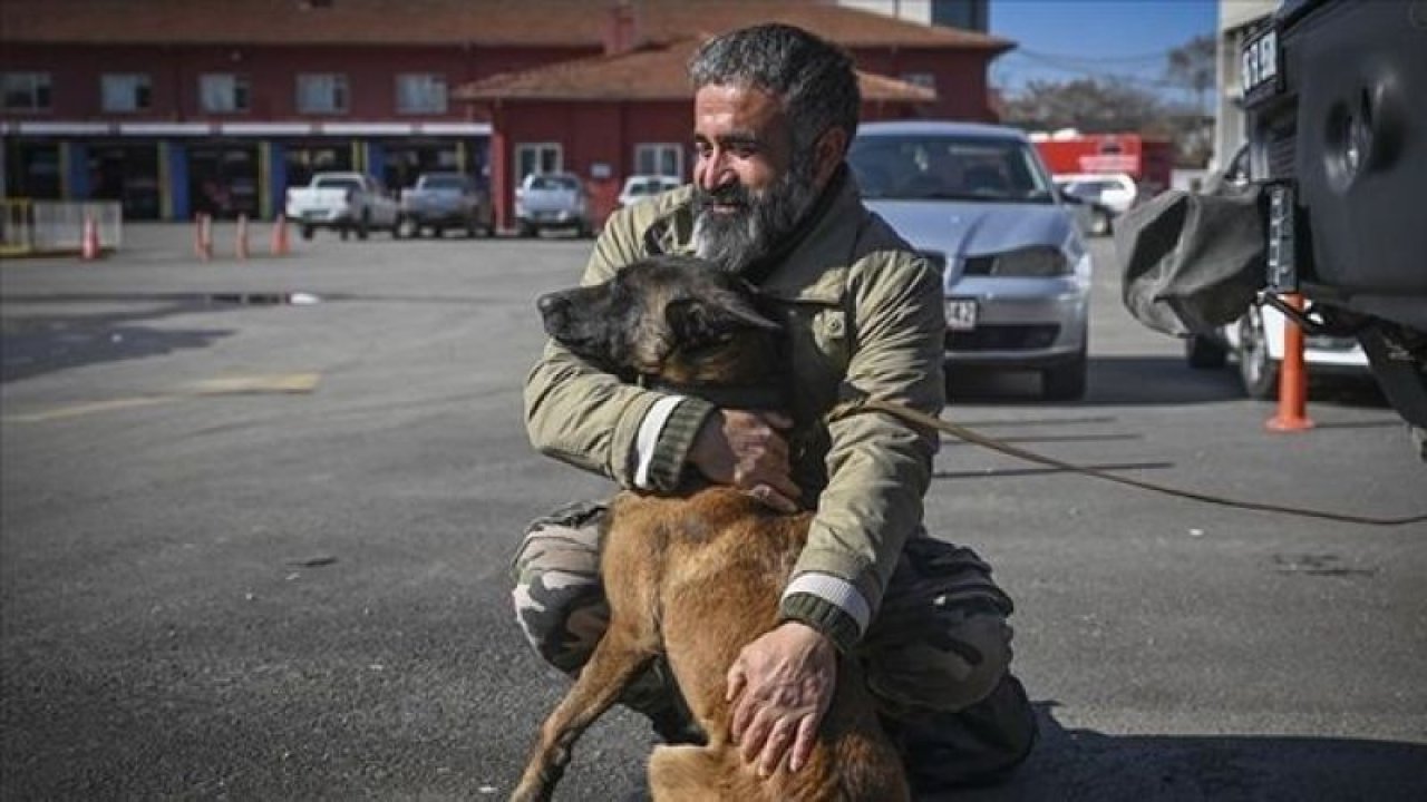
{"type": "Polygon", "coordinates": [[[1055,203],[1029,144],[963,134],[853,140],[848,163],[869,200],[1055,203]]]}

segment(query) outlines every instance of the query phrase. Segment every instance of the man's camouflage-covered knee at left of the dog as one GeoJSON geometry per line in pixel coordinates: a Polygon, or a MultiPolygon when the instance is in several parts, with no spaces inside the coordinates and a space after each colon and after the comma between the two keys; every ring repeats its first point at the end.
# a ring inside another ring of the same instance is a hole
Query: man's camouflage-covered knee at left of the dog
{"type": "Polygon", "coordinates": [[[531,646],[575,674],[609,624],[599,581],[604,505],[577,504],[534,521],[512,561],[515,618],[531,646]]]}

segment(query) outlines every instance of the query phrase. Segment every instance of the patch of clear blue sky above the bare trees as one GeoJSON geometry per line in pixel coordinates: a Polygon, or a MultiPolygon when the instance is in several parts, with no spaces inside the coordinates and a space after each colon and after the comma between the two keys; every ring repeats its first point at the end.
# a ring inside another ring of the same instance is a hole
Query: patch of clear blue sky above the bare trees
{"type": "Polygon", "coordinates": [[[1167,53],[1217,21],[1217,0],[990,0],[989,33],[1017,44],[992,61],[992,86],[1013,94],[1027,80],[1119,76],[1172,91],[1167,53]]]}

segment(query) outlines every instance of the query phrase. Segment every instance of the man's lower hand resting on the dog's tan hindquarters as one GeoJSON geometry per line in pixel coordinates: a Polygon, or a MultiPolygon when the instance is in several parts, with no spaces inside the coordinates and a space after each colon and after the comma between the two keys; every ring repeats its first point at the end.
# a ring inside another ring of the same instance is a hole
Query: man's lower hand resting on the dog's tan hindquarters
{"type": "Polygon", "coordinates": [[[769,776],[788,755],[789,771],[812,755],[813,738],[838,684],[838,652],[821,632],[789,621],[743,646],[728,669],[731,734],[745,762],[769,776]]]}

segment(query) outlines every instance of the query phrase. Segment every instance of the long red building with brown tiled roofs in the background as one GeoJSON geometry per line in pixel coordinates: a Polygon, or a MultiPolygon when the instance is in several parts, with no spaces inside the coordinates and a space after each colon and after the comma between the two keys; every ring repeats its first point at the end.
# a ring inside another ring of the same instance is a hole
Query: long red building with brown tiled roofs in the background
{"type": "Polygon", "coordinates": [[[3,0],[0,194],[270,217],[317,170],[462,170],[504,197],[565,168],[604,198],[686,174],[679,53],[773,20],[849,47],[869,116],[990,118],[986,67],[1012,47],[812,0],[3,0]],[[658,74],[621,67],[641,53],[658,74]],[[555,88],[585,67],[616,80],[555,88]]]}

